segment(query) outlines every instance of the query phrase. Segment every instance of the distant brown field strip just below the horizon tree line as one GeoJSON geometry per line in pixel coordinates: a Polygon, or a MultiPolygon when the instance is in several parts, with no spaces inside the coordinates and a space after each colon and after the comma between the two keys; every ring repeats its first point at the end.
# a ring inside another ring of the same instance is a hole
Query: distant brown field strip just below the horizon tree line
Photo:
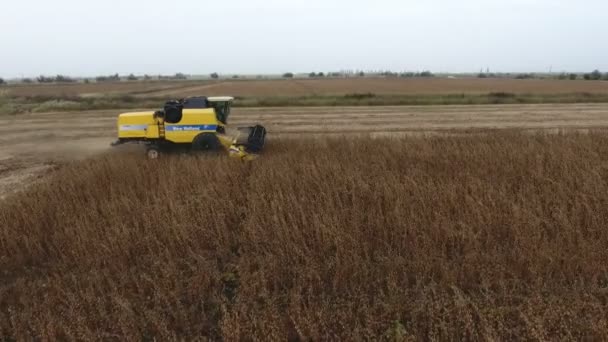
{"type": "Polygon", "coordinates": [[[233,95],[241,97],[344,95],[374,93],[399,94],[561,94],[608,93],[604,81],[515,80],[476,78],[347,78],[230,81],[153,81],[4,87],[12,96],[96,96],[135,95],[183,97],[233,95]]]}

